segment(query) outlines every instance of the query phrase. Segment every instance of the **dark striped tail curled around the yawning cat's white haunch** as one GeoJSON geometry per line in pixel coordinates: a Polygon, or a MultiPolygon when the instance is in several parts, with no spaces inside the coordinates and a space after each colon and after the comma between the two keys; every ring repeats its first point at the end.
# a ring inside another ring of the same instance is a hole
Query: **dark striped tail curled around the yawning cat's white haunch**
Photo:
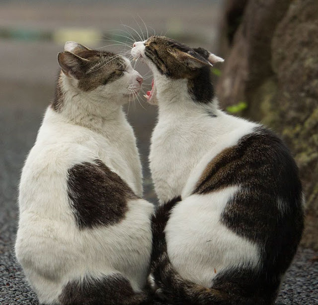
{"type": "Polygon", "coordinates": [[[152,275],[158,288],[157,295],[173,305],[263,304],[248,300],[249,298],[240,298],[235,294],[230,295],[224,290],[206,288],[180,277],[169,260],[164,234],[171,209],[179,201],[180,197],[159,206],[152,221],[152,275]]]}

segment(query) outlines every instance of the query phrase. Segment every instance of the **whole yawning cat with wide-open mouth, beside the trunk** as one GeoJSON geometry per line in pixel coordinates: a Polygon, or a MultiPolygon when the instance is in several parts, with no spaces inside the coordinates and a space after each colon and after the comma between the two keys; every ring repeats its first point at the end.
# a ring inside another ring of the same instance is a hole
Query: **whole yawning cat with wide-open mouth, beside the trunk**
{"type": "Polygon", "coordinates": [[[259,123],[218,107],[223,59],[163,36],[131,54],[154,75],[159,107],[150,168],[159,198],[152,275],[171,304],[274,304],[303,231],[303,194],[288,148],[259,123]]]}

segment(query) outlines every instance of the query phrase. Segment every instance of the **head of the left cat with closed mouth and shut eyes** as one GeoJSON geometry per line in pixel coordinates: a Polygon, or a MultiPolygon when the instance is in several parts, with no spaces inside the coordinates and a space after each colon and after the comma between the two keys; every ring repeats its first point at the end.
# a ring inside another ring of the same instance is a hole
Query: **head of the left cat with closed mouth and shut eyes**
{"type": "Polygon", "coordinates": [[[127,102],[143,82],[127,58],[91,50],[74,41],[66,42],[64,52],[58,54],[58,62],[68,85],[89,97],[127,102]]]}

